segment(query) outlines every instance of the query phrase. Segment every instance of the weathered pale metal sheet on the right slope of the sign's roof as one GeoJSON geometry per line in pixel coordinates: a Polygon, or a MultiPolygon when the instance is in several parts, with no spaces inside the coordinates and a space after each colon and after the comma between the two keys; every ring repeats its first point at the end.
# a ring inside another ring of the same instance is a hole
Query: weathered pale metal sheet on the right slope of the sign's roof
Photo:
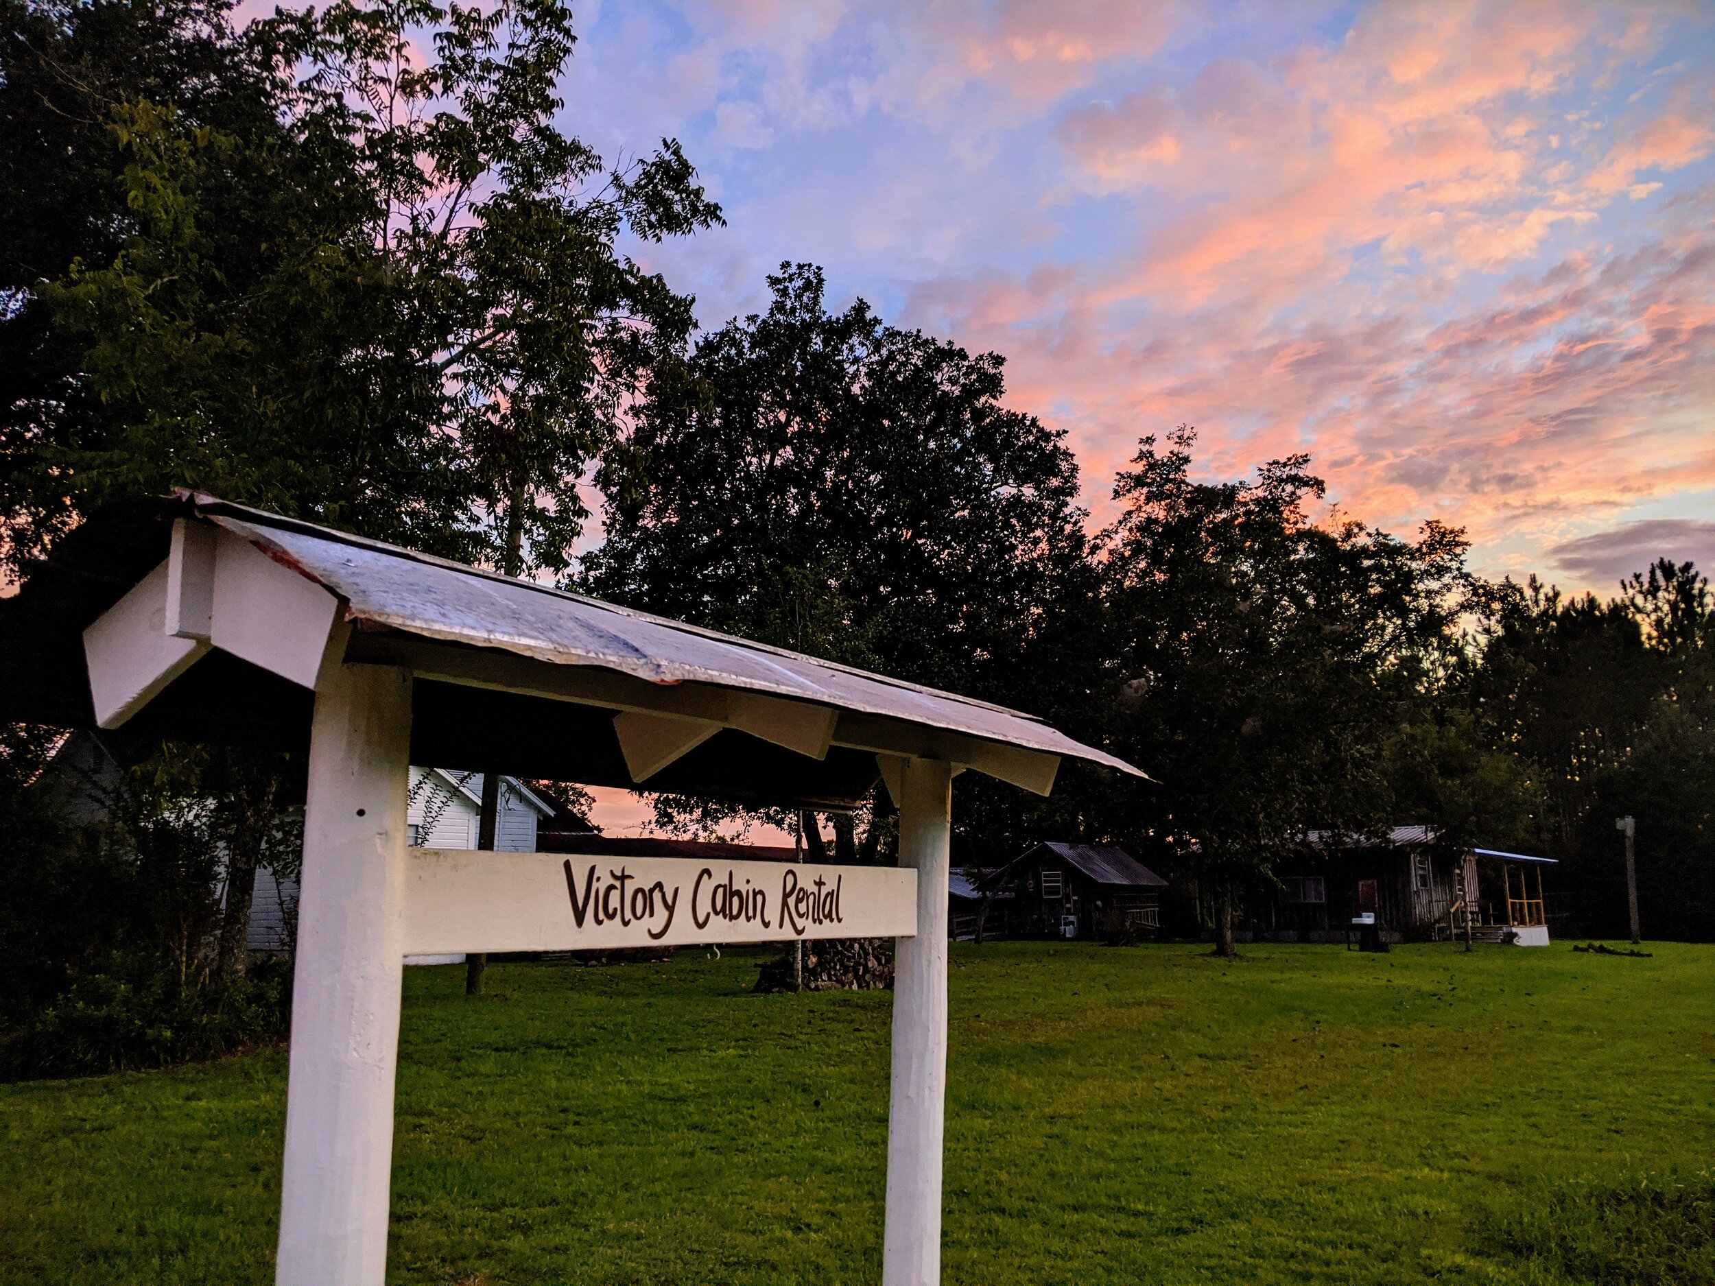
{"type": "Polygon", "coordinates": [[[194,502],[220,526],[345,598],[353,621],[501,648],[557,665],[597,665],[657,684],[708,682],[816,701],[1142,775],[1123,760],[1017,710],[208,496],[194,502]]]}

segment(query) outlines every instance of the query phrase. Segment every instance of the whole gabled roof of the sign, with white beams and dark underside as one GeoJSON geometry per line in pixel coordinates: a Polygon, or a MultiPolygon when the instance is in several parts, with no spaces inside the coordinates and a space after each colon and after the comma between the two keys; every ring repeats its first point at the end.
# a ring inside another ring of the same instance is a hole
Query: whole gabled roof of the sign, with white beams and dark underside
{"type": "MultiPolygon", "coordinates": [[[[93,518],[0,604],[3,717],[307,744],[329,665],[412,670],[412,760],[849,808],[906,758],[1048,794],[1029,715],[180,494],[93,518]]],[[[897,780],[897,778],[895,778],[897,780]]]]}

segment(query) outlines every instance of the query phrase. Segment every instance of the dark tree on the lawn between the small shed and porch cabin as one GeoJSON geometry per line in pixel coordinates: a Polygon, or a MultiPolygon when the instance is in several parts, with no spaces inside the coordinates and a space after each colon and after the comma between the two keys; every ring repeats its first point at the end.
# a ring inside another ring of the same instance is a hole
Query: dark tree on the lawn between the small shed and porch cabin
{"type": "Polygon", "coordinates": [[[1243,888],[1307,832],[1391,825],[1384,746],[1451,660],[1465,540],[1437,523],[1417,542],[1312,523],[1326,487],[1307,456],[1194,482],[1194,444],[1190,429],[1164,451],[1144,437],[1115,487],[1115,736],[1161,780],[1149,828],[1194,861],[1231,955],[1243,888]]]}

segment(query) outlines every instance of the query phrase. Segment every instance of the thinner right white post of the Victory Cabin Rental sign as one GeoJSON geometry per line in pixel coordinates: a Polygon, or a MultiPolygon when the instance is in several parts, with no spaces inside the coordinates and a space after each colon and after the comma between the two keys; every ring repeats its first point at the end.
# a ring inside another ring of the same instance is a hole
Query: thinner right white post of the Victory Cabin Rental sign
{"type": "Polygon", "coordinates": [[[899,794],[899,864],[918,869],[918,936],[899,938],[895,950],[882,1286],[938,1286],[952,765],[906,760],[899,794]]]}

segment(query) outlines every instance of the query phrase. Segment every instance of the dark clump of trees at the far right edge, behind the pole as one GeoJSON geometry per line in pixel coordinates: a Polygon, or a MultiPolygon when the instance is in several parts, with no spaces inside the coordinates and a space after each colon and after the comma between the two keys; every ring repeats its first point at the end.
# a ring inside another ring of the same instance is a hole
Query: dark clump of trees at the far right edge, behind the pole
{"type": "Polygon", "coordinates": [[[1689,562],[1658,561],[1621,593],[1495,586],[1466,686],[1495,753],[1540,782],[1530,842],[1586,931],[1626,928],[1614,818],[1634,814],[1652,934],[1715,938],[1715,607],[1689,562]]]}

